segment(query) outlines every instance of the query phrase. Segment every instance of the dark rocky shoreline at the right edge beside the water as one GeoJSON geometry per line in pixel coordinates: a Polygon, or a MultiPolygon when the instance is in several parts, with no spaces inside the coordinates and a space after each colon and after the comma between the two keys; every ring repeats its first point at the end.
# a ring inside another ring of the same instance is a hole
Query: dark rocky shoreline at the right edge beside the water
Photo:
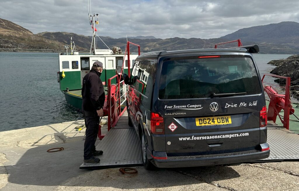
{"type": "MultiPolygon", "coordinates": [[[[277,66],[270,73],[291,78],[291,93],[299,100],[299,55],[292,55],[281,60],[272,60],[268,64],[277,66]]],[[[282,86],[286,85],[285,79],[278,78],[274,81],[282,86]]]]}

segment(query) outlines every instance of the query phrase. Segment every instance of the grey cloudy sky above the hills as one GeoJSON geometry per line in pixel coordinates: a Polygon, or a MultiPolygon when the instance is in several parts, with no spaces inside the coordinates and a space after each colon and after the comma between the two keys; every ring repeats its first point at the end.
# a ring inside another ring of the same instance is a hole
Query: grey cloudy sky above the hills
{"type": "MultiPolygon", "coordinates": [[[[32,31],[90,36],[88,0],[1,0],[0,18],[32,31]]],[[[298,0],[91,0],[99,36],[218,38],[238,29],[299,22],[298,0]]]]}

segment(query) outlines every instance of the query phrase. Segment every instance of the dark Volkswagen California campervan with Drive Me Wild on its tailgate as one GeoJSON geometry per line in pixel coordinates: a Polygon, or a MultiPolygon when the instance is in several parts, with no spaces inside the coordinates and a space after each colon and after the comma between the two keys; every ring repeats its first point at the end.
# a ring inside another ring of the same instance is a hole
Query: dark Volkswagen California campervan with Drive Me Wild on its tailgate
{"type": "Polygon", "coordinates": [[[135,60],[126,97],[129,125],[147,169],[233,164],[267,158],[266,102],[251,53],[232,49],[155,51],[135,60]]]}

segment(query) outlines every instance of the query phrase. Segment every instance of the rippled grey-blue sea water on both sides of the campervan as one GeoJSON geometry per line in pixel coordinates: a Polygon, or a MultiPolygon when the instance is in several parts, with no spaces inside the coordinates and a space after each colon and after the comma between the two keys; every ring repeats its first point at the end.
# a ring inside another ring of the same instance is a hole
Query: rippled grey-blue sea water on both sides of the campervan
{"type": "MultiPolygon", "coordinates": [[[[263,76],[275,68],[269,61],[289,56],[255,54],[254,59],[263,76]]],[[[0,131],[83,119],[65,101],[58,70],[58,53],[0,52],[0,131]]]]}

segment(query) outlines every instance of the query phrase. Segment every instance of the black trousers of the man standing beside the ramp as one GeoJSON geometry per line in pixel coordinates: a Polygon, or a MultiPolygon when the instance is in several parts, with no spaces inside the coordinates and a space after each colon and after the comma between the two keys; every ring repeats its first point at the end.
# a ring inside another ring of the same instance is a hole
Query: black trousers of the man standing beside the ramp
{"type": "Polygon", "coordinates": [[[97,116],[96,111],[83,110],[85,120],[85,142],[84,142],[84,159],[88,160],[93,157],[95,151],[95,141],[97,140],[97,133],[99,131],[100,117],[97,116]]]}

